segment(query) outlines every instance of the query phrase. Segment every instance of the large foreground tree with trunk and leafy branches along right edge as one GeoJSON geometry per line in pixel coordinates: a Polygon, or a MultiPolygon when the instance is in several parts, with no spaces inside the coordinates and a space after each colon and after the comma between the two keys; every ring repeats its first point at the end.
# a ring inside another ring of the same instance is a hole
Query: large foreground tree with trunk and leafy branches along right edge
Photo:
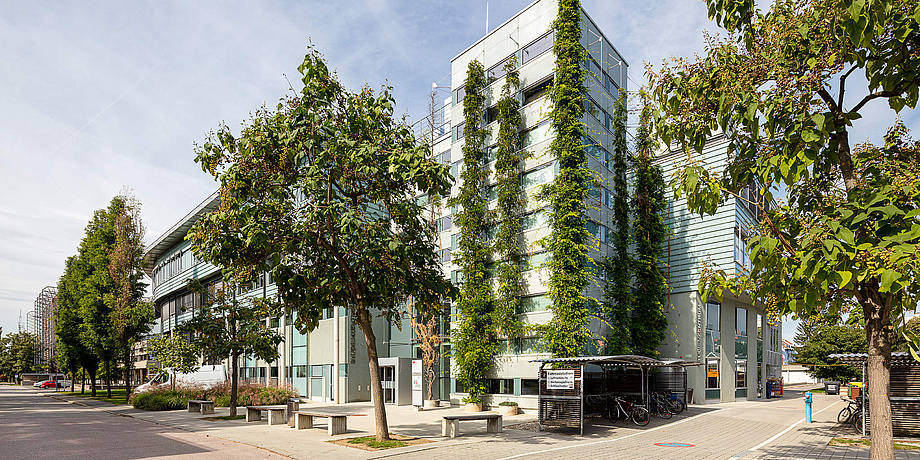
{"type": "Polygon", "coordinates": [[[721,131],[733,152],[721,177],[690,162],[676,184],[712,213],[752,183],[788,203],[765,212],[749,275],[714,272],[701,291],[746,292],[774,315],[858,308],[868,341],[872,458],[893,458],[887,398],[893,311],[916,305],[920,214],[917,144],[895,126],[883,146],[853,148],[861,111],[915,108],[920,7],[914,1],[708,0],[729,36],[704,56],[650,72],[658,136],[701,151],[721,131]],[[865,80],[851,77],[862,74],[865,80]],[[856,85],[860,84],[861,87],[856,85]],[[860,91],[854,91],[859,88],[860,91]],[[855,98],[854,98],[855,96],[855,98]]]}

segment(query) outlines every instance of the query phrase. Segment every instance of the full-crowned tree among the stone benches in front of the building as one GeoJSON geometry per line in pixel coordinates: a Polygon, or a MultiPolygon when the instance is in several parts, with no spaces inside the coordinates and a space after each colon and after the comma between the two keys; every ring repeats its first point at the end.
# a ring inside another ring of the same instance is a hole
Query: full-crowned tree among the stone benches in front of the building
{"type": "Polygon", "coordinates": [[[348,92],[312,48],[299,70],[297,97],[254,114],[239,136],[221,126],[198,149],[196,161],[221,182],[221,203],[189,238],[198,257],[235,279],[271,270],[301,332],[326,308],[348,309],[364,332],[383,441],[373,315],[395,320],[409,296],[420,308],[453,296],[416,199],[444,196],[449,171],[394,120],[391,88],[348,92]]]}

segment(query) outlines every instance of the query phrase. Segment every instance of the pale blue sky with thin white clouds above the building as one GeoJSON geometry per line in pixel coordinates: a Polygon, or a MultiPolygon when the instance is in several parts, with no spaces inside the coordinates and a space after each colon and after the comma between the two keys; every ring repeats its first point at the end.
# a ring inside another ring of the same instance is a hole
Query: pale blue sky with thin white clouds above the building
{"type": "MultiPolygon", "coordinates": [[[[529,3],[489,2],[490,27],[529,3]]],[[[633,89],[644,62],[702,52],[703,30],[717,30],[696,1],[583,5],[631,64],[633,89]]],[[[390,84],[417,119],[485,31],[485,1],[0,0],[0,327],[16,330],[124,187],[143,203],[148,242],[206,198],[216,185],[194,143],[273,106],[311,41],[349,88],[390,84]]],[[[851,139],[877,142],[892,119],[870,104],[851,139]]],[[[915,114],[905,121],[917,131],[915,114]]]]}

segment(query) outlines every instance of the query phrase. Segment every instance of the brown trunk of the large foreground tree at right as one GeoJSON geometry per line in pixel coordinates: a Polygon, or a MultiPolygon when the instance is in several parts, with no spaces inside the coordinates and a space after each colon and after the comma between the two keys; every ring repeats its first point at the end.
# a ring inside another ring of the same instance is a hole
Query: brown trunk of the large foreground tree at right
{"type": "Polygon", "coordinates": [[[891,341],[888,328],[891,313],[874,302],[863,305],[866,319],[866,338],[869,342],[869,359],[866,371],[869,379],[866,395],[869,396],[869,422],[873,460],[893,460],[894,442],[891,432],[891,401],[888,388],[891,371],[891,341]]]}

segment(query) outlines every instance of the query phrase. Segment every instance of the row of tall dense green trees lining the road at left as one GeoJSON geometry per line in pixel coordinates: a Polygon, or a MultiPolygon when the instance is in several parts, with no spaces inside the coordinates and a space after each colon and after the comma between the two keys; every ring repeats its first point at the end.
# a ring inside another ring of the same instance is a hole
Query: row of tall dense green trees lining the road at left
{"type": "Polygon", "coordinates": [[[143,300],[143,239],[140,202],[124,192],[94,213],[58,281],[58,366],[74,382],[77,371],[88,374],[93,396],[100,371],[107,397],[119,372],[131,392],[131,348],[153,321],[153,308],[143,300]]]}

